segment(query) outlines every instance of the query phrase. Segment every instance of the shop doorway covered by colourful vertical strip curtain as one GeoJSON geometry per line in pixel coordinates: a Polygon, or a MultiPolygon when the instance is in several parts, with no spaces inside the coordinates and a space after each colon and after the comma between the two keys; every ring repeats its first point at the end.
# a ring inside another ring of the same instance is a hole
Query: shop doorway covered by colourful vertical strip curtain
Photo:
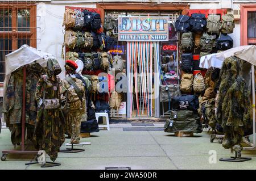
{"type": "Polygon", "coordinates": [[[127,42],[127,116],[159,117],[159,42],[127,42]]]}

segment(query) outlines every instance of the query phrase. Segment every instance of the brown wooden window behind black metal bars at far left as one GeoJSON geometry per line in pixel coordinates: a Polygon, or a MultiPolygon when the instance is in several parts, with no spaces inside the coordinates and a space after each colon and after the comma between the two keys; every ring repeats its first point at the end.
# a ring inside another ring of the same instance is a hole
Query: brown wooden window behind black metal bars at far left
{"type": "Polygon", "coordinates": [[[5,55],[27,44],[36,48],[36,5],[11,1],[0,5],[0,82],[5,79],[5,55]]]}

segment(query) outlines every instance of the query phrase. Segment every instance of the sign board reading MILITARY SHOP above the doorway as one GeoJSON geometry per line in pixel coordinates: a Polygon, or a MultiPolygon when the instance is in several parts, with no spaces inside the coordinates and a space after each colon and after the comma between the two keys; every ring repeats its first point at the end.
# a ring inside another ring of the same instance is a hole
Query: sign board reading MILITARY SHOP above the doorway
{"type": "Polygon", "coordinates": [[[168,16],[118,16],[118,41],[168,41],[168,16]]]}

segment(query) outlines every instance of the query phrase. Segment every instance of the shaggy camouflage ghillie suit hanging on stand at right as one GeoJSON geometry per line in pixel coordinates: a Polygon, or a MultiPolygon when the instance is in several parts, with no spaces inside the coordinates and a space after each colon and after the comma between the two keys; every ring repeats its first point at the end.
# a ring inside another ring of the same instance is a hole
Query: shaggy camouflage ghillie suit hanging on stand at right
{"type": "Polygon", "coordinates": [[[220,71],[220,94],[216,119],[225,131],[222,146],[241,151],[242,136],[250,127],[250,91],[242,77],[243,60],[226,58],[220,71]]]}

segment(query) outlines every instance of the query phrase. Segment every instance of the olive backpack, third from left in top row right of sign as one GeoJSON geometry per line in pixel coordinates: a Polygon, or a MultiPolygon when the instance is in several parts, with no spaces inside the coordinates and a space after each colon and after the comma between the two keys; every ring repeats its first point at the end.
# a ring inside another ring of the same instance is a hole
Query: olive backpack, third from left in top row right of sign
{"type": "Polygon", "coordinates": [[[207,32],[210,34],[213,33],[220,33],[221,30],[221,22],[220,22],[220,15],[208,15],[207,18],[207,32]]]}

